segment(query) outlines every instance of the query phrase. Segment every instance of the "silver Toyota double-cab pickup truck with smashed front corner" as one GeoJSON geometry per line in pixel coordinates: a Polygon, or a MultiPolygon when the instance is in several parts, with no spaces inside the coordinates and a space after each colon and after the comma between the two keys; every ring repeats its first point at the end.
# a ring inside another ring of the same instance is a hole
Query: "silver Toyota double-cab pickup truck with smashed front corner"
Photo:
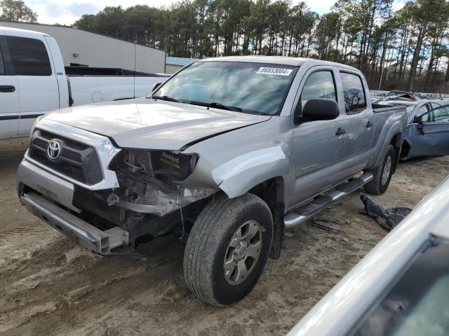
{"type": "Polygon", "coordinates": [[[196,62],[149,97],[37,120],[20,201],[102,255],[187,241],[187,286],[227,306],[279,258],[286,228],[361,186],[387,190],[406,110],[368,92],[360,71],[314,59],[196,62]]]}

